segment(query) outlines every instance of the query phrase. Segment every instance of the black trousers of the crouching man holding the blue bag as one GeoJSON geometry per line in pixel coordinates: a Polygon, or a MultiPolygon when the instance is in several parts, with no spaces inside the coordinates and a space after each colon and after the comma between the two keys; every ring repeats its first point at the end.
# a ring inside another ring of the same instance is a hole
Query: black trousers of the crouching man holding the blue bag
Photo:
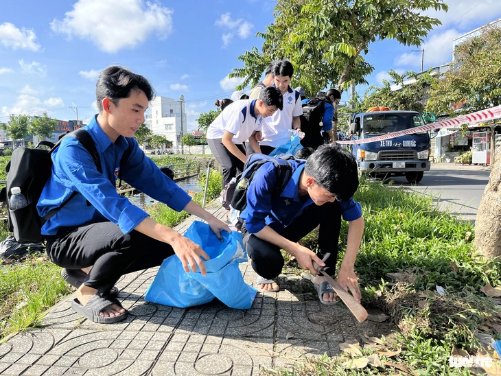
{"type": "Polygon", "coordinates": [[[47,236],[47,255],[62,268],[93,266],[84,285],[106,294],[124,274],[159,266],[174,249],[137,231],[124,234],[117,224],[99,222],[47,236]]]}

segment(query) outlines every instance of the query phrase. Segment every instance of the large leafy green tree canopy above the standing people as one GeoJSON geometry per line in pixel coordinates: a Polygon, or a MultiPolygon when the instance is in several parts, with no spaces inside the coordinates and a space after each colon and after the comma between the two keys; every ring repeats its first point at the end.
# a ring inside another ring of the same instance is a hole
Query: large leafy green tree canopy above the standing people
{"type": "Polygon", "coordinates": [[[269,62],[288,58],[294,65],[294,85],[307,95],[326,87],[346,89],[366,83],[374,67],[366,61],[376,40],[395,39],[419,46],[438,19],[426,10],[447,10],[443,0],[277,0],[275,21],[257,36],[261,52],[253,47],[239,60],[242,68],[230,77],[244,78],[240,88],[255,84],[269,62]]]}

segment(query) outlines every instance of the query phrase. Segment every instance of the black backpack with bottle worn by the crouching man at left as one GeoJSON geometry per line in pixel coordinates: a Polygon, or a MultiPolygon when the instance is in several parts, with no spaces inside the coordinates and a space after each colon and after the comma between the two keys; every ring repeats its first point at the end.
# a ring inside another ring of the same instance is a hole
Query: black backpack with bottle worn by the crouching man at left
{"type": "MultiPolygon", "coordinates": [[[[86,130],[78,129],[69,132],[67,135],[75,137],[84,146],[84,148],[93,157],[97,169],[102,172],[99,154],[95,148],[95,143],[91,135],[86,130]]],[[[65,137],[67,136],[65,135],[65,137]]],[[[8,207],[8,225],[9,231],[14,233],[14,237],[19,243],[36,243],[43,241],[41,228],[49,218],[56,214],[62,207],[73,198],[77,192],[73,192],[71,196],[62,203],[58,208],[52,209],[40,218],[36,211],[36,204],[42,193],[43,187],[52,173],[51,154],[60,144],[58,141],[54,145],[50,141],[40,141],[36,148],[21,147],[16,148],[12,152],[9,163],[5,167],[7,172],[7,184],[0,192],[0,198],[7,204],[8,207]],[[45,145],[50,150],[40,148],[45,145]],[[10,209],[10,189],[12,187],[20,187],[21,193],[27,200],[27,206],[21,209],[10,209]]]]}

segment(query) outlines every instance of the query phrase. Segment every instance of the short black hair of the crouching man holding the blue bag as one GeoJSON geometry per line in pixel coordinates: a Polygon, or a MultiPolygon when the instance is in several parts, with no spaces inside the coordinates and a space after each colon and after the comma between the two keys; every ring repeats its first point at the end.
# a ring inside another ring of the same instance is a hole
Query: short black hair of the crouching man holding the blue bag
{"type": "Polygon", "coordinates": [[[145,93],[148,101],[155,96],[152,85],[142,75],[116,65],[104,69],[95,84],[97,108],[100,112],[103,110],[104,98],[109,98],[116,105],[119,99],[128,98],[132,90],[145,93]]]}

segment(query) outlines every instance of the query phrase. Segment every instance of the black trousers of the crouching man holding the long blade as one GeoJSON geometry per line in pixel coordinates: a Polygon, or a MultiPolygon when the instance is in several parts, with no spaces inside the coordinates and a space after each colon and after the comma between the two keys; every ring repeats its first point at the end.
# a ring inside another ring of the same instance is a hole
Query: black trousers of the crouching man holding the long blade
{"type": "MultiPolygon", "coordinates": [[[[318,233],[318,252],[321,259],[325,253],[331,256],[325,261],[326,272],[331,275],[336,273],[338,259],[338,242],[341,229],[341,208],[338,202],[327,202],[321,206],[312,204],[294,218],[291,224],[277,231],[280,235],[292,242],[299,242],[316,226],[320,225],[318,233]]],[[[276,231],[276,230],[275,230],[276,231]]],[[[244,228],[244,246],[251,265],[261,277],[272,279],[277,277],[283,268],[284,260],[280,248],[266,242],[255,235],[251,235],[244,228]]]]}

